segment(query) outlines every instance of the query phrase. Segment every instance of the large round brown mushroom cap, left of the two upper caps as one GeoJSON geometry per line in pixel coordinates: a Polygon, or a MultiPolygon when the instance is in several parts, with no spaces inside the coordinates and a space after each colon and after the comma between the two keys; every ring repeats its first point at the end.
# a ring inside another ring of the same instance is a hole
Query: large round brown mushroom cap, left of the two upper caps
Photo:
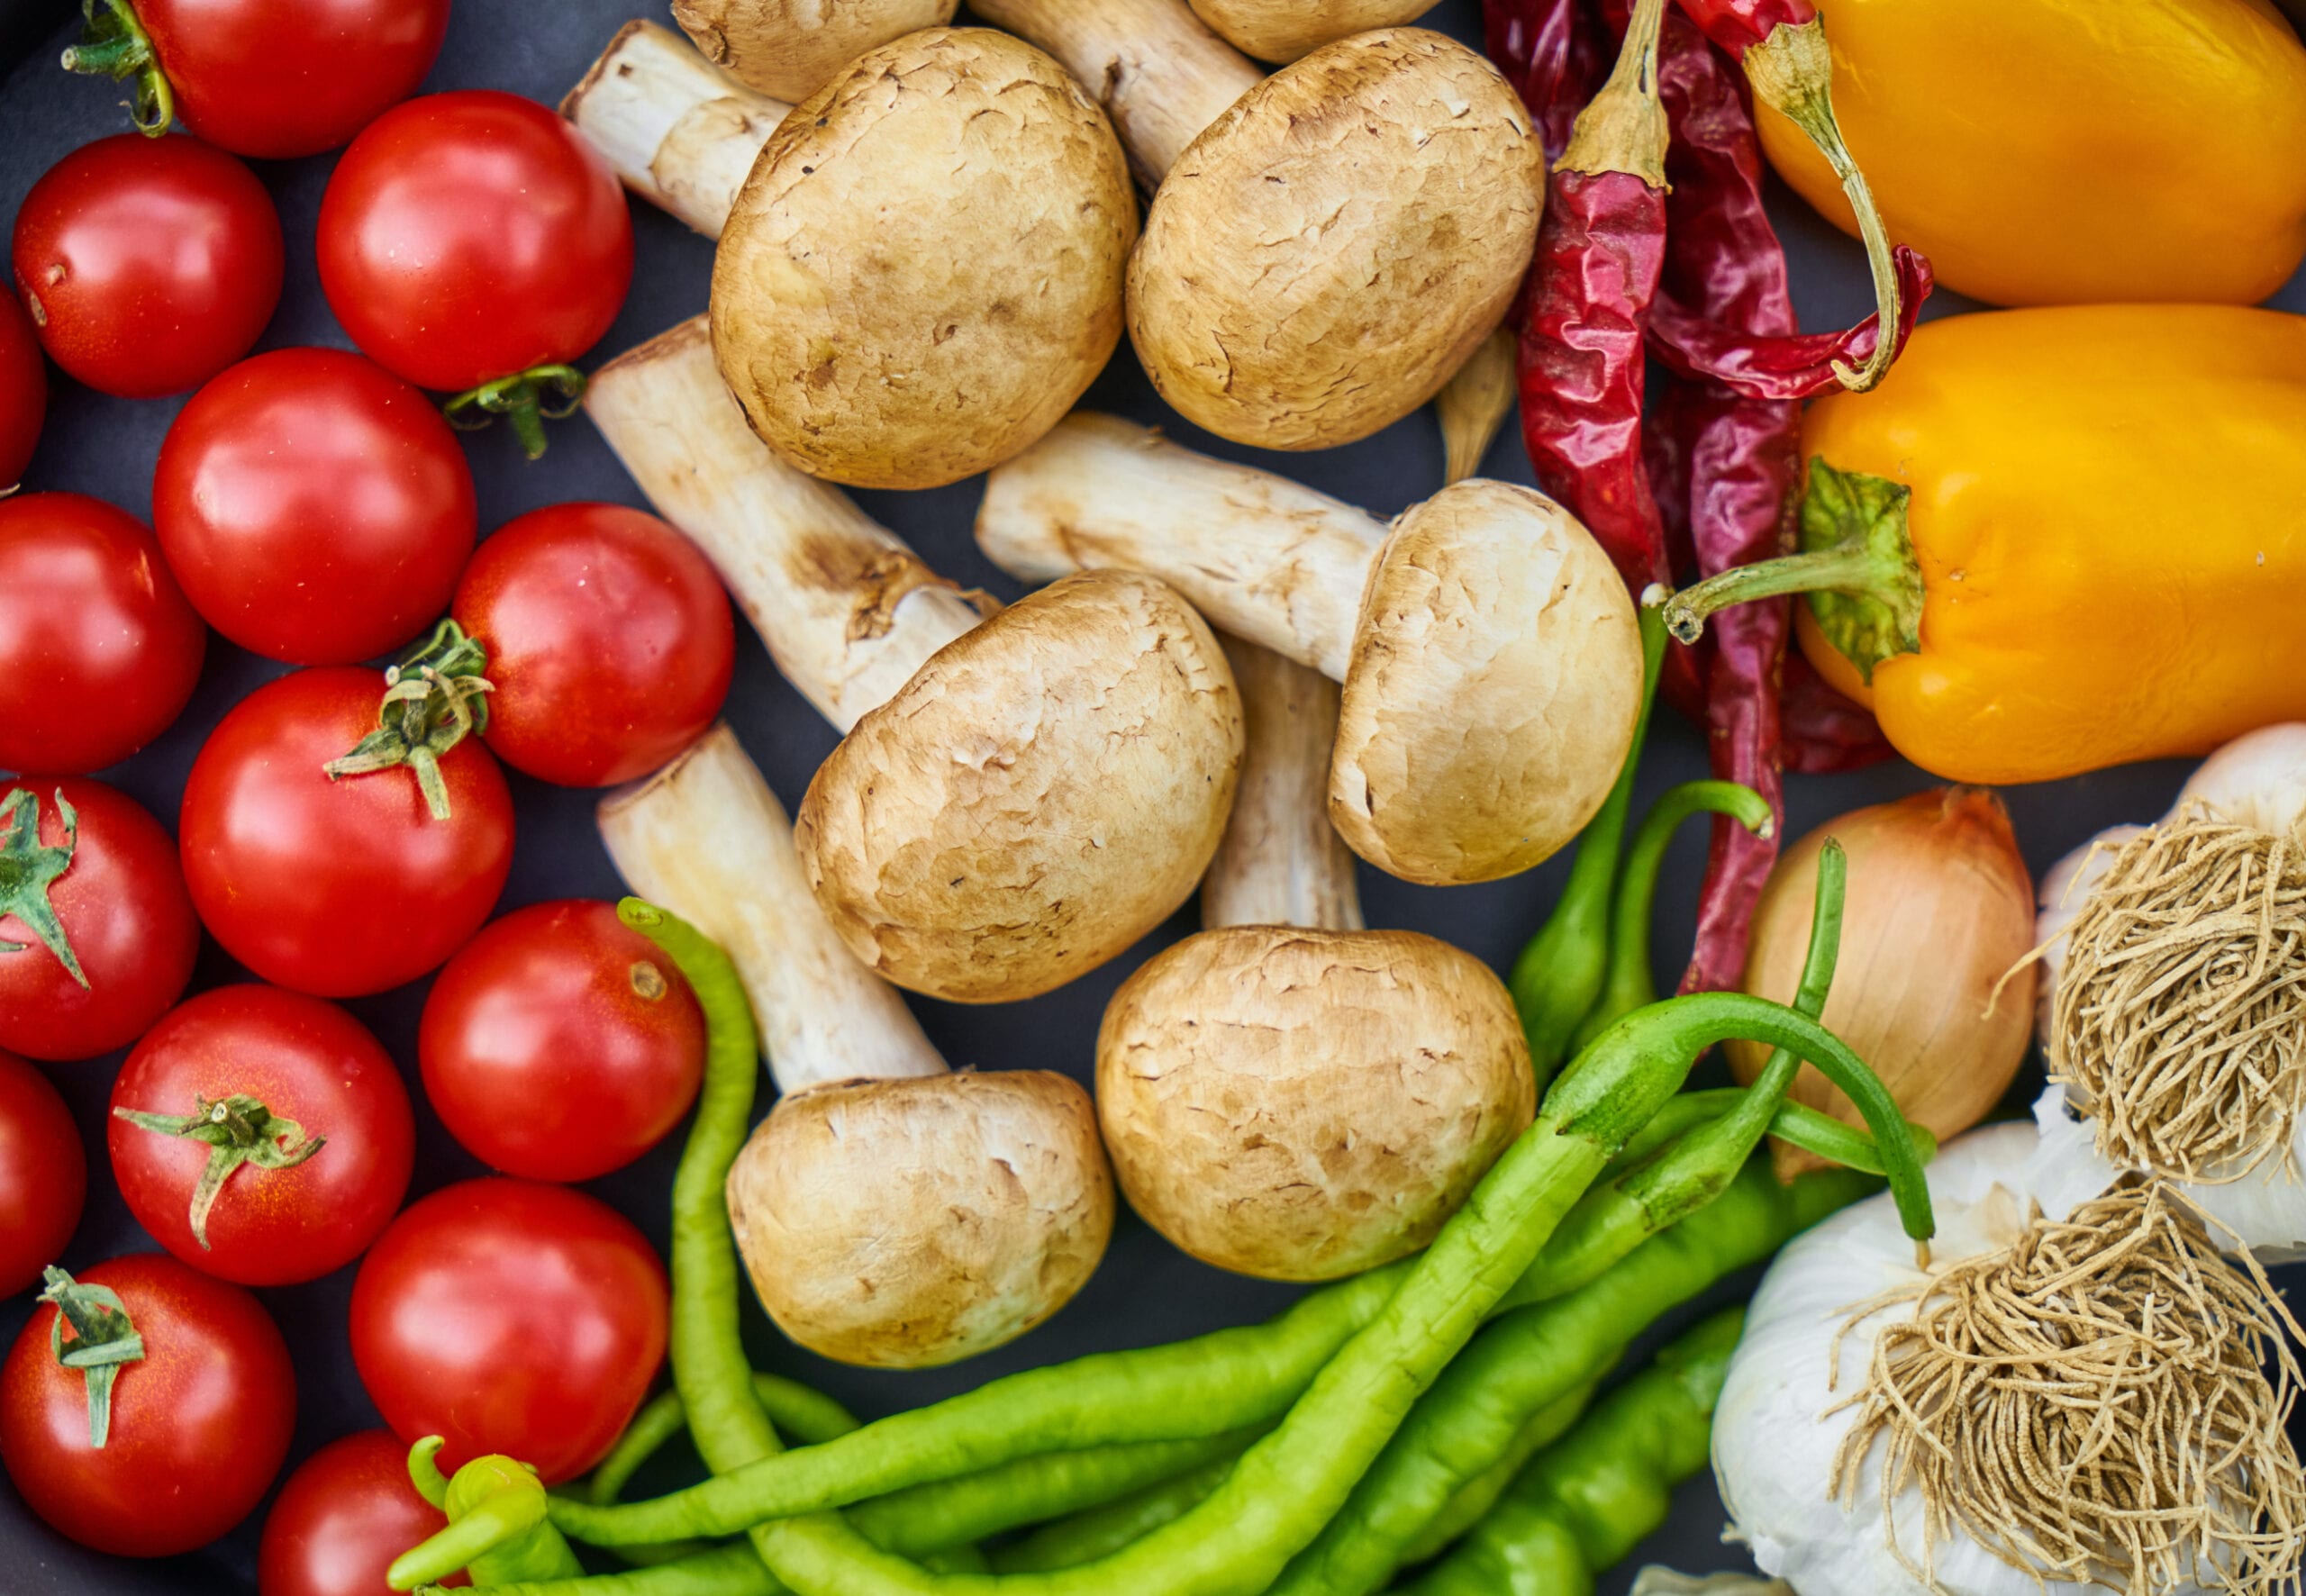
{"type": "Polygon", "coordinates": [[[957,482],[1105,367],[1135,238],[1121,141],[1065,69],[1003,32],[927,28],[763,145],[713,258],[713,351],[793,466],[957,482]]]}

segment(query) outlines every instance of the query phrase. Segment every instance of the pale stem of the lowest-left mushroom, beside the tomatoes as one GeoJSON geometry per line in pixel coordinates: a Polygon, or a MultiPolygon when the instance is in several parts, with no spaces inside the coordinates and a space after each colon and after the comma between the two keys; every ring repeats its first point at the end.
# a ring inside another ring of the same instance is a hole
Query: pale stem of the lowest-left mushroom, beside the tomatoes
{"type": "Polygon", "coordinates": [[[729,727],[602,798],[600,835],[634,893],[729,950],[777,1091],[945,1072],[895,987],[835,936],[793,823],[729,727]]]}

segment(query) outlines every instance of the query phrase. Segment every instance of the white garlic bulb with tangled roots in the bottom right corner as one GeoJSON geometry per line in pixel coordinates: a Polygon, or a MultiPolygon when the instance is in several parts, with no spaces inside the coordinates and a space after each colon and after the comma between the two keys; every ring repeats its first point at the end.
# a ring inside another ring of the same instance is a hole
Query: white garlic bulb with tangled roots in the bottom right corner
{"type": "Polygon", "coordinates": [[[2034,1151],[2029,1126],[1990,1126],[1930,1165],[1928,1273],[1886,1197],[1771,1264],[1713,1471],[1732,1536],[1801,1596],[2239,1596],[2278,1589],[2306,1550],[2294,1363],[2258,1363],[2281,1347],[2262,1278],[2168,1188],[2059,1211],[2034,1151]],[[2122,1467],[2073,1465],[2098,1441],[2122,1467]],[[2145,1478],[2145,1511],[2103,1499],[2108,1476],[2145,1478]]]}

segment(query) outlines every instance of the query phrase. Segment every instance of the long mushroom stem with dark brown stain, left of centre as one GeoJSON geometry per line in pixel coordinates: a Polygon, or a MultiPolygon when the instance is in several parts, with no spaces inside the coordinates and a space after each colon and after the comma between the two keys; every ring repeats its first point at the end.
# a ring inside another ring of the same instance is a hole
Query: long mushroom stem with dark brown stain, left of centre
{"type": "Polygon", "coordinates": [[[842,731],[982,620],[989,600],[964,595],[752,434],[703,316],[595,371],[586,411],[719,570],[784,678],[842,731]]]}

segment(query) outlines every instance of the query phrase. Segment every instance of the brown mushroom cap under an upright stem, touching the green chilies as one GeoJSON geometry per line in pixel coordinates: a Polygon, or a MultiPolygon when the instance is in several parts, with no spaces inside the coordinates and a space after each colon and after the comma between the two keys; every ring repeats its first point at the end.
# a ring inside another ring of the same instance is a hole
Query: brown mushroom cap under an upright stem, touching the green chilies
{"type": "Polygon", "coordinates": [[[1423,1248],[1533,1114],[1504,983],[1414,932],[1201,932],[1130,976],[1098,1031],[1130,1206],[1273,1280],[1423,1248]]]}

